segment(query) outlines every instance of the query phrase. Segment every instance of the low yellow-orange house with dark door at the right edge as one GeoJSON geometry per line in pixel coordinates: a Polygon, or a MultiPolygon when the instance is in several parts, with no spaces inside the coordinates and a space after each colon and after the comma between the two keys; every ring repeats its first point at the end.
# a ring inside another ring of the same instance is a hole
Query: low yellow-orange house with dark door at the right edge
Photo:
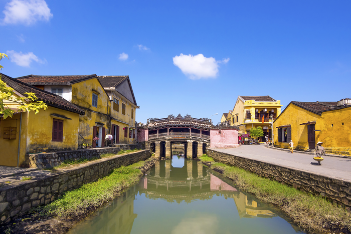
{"type": "Polygon", "coordinates": [[[327,153],[351,155],[351,100],[339,102],[292,101],[274,121],[274,145],[313,150],[323,142],[327,153]]]}

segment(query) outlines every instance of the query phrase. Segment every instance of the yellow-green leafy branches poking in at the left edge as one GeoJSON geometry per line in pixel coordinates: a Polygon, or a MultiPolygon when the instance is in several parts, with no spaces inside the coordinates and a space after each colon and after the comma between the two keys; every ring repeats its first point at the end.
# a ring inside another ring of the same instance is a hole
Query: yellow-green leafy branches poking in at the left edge
{"type": "MultiPolygon", "coordinates": [[[[8,56],[6,54],[0,53],[0,60],[8,56]]],[[[0,70],[3,69],[3,66],[0,65],[0,70]]],[[[17,111],[35,111],[37,114],[39,109],[46,110],[48,105],[43,101],[37,101],[37,96],[35,93],[25,93],[27,97],[16,97],[14,95],[14,89],[7,86],[6,83],[1,79],[0,76],[0,114],[4,114],[4,119],[7,117],[13,117],[15,111],[10,109],[7,105],[9,103],[17,103],[17,111]],[[4,103],[5,101],[5,103],[4,103]]]]}

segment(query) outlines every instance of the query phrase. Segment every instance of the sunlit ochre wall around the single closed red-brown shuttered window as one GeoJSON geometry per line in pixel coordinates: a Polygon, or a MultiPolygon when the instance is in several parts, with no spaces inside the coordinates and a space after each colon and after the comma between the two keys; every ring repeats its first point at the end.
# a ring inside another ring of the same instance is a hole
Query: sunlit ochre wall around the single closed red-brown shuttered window
{"type": "Polygon", "coordinates": [[[76,150],[78,148],[79,114],[48,107],[47,110],[29,112],[26,153],[76,150]],[[53,119],[51,114],[63,115],[63,141],[52,141],[53,119]]]}

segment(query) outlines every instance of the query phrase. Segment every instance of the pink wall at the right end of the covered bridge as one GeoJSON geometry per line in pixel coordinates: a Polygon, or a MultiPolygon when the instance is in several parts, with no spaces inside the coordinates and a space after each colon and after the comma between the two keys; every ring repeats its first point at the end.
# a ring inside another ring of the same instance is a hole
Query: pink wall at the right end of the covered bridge
{"type": "Polygon", "coordinates": [[[219,129],[210,130],[211,148],[233,148],[238,144],[238,130],[236,129],[219,129]]]}

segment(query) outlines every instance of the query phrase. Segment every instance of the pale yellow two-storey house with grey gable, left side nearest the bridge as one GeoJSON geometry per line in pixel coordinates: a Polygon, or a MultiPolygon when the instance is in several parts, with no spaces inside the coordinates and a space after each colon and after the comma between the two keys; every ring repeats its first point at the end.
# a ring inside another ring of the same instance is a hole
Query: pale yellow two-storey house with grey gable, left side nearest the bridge
{"type": "Polygon", "coordinates": [[[111,102],[111,134],[116,144],[135,143],[136,104],[129,76],[99,76],[111,102]]]}

